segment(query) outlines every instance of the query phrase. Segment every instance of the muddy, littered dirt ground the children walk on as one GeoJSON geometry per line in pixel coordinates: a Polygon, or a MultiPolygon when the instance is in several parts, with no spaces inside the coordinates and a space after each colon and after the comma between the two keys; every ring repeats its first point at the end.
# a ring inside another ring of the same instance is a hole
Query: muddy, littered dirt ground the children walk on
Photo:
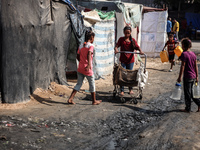
{"type": "MultiPolygon", "coordinates": [[[[113,99],[112,75],[96,81],[97,99],[91,105],[88,83],[76,95],[76,105],[66,103],[75,83],[51,83],[36,89],[31,101],[0,104],[1,150],[199,150],[200,113],[182,113],[182,100],[169,98],[180,65],[168,72],[169,63],[148,58],[148,82],[137,105],[113,99]]],[[[128,92],[128,89],[126,89],[128,92]]]]}

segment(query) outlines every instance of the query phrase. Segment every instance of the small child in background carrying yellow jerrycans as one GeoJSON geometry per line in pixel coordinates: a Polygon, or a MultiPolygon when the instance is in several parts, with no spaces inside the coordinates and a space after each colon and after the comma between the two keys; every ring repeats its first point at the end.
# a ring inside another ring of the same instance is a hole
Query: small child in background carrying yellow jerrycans
{"type": "Polygon", "coordinates": [[[173,40],[173,34],[169,35],[169,40],[165,43],[165,46],[162,51],[164,51],[165,47],[167,46],[168,50],[168,55],[169,55],[169,62],[171,63],[171,67],[169,69],[169,72],[172,72],[173,65],[175,65],[175,53],[174,49],[176,48],[176,44],[178,45],[179,43],[175,40],[173,40]]]}

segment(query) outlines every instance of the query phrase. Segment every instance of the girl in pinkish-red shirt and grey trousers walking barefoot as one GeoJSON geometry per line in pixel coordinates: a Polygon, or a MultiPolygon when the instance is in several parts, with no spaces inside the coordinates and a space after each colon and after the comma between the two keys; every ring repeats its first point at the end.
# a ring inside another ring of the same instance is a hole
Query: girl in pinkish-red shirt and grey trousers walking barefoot
{"type": "Polygon", "coordinates": [[[85,42],[78,49],[77,52],[77,59],[79,61],[79,66],[77,70],[78,81],[76,86],[74,87],[74,90],[71,93],[71,96],[67,101],[68,104],[75,104],[73,102],[73,98],[77,93],[77,91],[80,90],[85,77],[89,82],[89,91],[91,92],[93,101],[92,104],[98,105],[101,103],[101,100],[96,100],[94,73],[92,70],[92,59],[94,50],[94,45],[92,43],[94,42],[94,36],[95,34],[92,31],[86,32],[85,42]]]}

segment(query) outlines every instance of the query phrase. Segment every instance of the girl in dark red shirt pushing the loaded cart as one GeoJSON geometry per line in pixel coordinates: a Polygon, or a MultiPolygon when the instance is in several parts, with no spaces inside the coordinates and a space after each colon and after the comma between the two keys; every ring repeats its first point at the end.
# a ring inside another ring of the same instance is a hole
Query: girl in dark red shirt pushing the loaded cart
{"type": "MultiPolygon", "coordinates": [[[[137,44],[136,40],[131,36],[132,29],[129,26],[124,28],[124,37],[120,37],[116,46],[115,46],[115,53],[118,52],[118,48],[120,47],[120,51],[127,51],[133,52],[134,50],[139,50],[140,54],[144,54],[140,49],[139,45],[137,44]]],[[[120,55],[120,62],[123,68],[133,70],[134,66],[134,54],[129,53],[121,53],[120,55]]],[[[124,95],[124,87],[120,87],[121,96],[124,95]]],[[[129,93],[133,94],[132,87],[129,87],[129,93]]]]}

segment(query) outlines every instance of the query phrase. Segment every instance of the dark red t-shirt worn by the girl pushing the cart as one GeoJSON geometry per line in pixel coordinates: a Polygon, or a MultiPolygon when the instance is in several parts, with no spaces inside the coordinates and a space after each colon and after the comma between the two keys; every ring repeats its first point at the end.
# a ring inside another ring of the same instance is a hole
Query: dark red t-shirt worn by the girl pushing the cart
{"type": "MultiPolygon", "coordinates": [[[[134,49],[139,49],[139,45],[137,44],[137,41],[134,38],[133,38],[133,43],[135,45],[134,49]]],[[[131,41],[126,42],[124,37],[119,38],[117,46],[121,48],[120,51],[128,51],[128,52],[134,51],[131,41]]],[[[134,54],[121,53],[119,60],[124,64],[133,63],[135,61],[134,54]]]]}

